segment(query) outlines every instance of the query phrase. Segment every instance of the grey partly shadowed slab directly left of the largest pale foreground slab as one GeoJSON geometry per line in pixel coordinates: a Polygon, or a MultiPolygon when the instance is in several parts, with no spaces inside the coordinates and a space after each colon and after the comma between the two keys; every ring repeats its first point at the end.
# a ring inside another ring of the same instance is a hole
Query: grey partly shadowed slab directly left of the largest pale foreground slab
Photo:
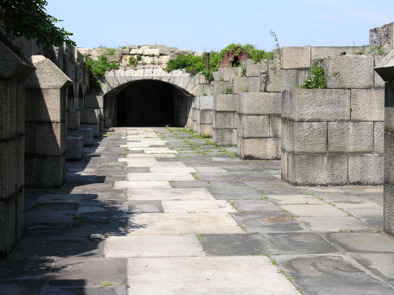
{"type": "Polygon", "coordinates": [[[125,258],[57,259],[49,273],[48,280],[45,282],[45,287],[88,289],[90,287],[98,288],[102,283],[110,282],[115,286],[123,285],[122,287],[125,289],[126,270],[127,259],[125,258]]]}

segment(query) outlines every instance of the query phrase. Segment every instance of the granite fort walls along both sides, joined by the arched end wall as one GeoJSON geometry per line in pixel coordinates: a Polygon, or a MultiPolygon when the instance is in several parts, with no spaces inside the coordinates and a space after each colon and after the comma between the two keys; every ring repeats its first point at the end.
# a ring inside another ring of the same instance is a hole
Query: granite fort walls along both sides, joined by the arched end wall
{"type": "Polygon", "coordinates": [[[62,186],[66,159],[81,159],[82,147],[104,124],[116,125],[116,94],[141,79],[176,87],[180,122],[212,135],[218,145],[237,145],[242,159],[281,159],[289,183],[385,182],[385,230],[393,233],[393,54],[378,55],[373,48],[385,44],[386,53],[393,52],[393,36],[393,23],[372,29],[371,53],[364,55],[356,54],[361,47],[284,47],[274,60],[220,68],[211,82],[200,74],[163,71],[169,58],[193,52],[161,45],[120,48],[108,58],[124,68],[105,74],[101,92],[90,89],[83,66],[84,51],[96,58],[93,51],[22,40],[21,58],[1,43],[0,256],[21,236],[24,187],[62,186]],[[137,55],[141,60],[127,68],[137,55]],[[299,89],[317,59],[327,88],[299,89]],[[382,79],[376,67],[389,74],[382,79]]]}

